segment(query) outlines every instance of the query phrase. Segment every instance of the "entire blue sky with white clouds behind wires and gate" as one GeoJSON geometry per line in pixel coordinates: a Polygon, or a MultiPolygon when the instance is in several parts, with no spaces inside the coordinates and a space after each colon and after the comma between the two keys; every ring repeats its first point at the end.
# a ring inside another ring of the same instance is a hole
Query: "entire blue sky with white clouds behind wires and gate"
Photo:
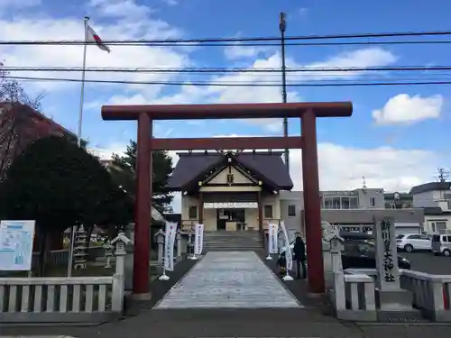
{"type": "MultiPolygon", "coordinates": [[[[380,0],[378,2],[332,0],[4,0],[0,4],[0,40],[81,40],[83,16],[104,40],[277,36],[279,13],[287,13],[287,36],[360,32],[446,31],[451,3],[444,0],[380,0]],[[8,9],[8,10],[6,10],[8,9]],[[11,11],[13,9],[13,11],[11,11]],[[428,14],[425,14],[428,13],[428,14]]],[[[415,40],[438,39],[419,37],[415,40]]],[[[445,38],[441,38],[446,40],[445,38]]],[[[406,40],[406,38],[400,38],[406,40]]],[[[451,40],[451,39],[448,39],[451,40]]],[[[278,48],[243,46],[151,48],[112,46],[111,54],[90,46],[88,67],[133,68],[278,68],[278,48]]],[[[384,67],[448,65],[451,44],[288,46],[289,67],[384,67]]],[[[6,66],[81,67],[81,46],[0,46],[6,66]]],[[[79,78],[74,73],[26,72],[14,75],[79,78]]],[[[277,75],[237,74],[216,80],[265,81],[277,75]]],[[[324,80],[325,74],[290,81],[324,80]]],[[[446,72],[333,74],[337,81],[376,78],[446,79],[446,72]]],[[[165,74],[96,74],[87,78],[143,81],[207,81],[207,76],[165,74]]],[[[72,131],[77,130],[79,84],[32,82],[30,93],[45,90],[44,112],[72,131]]],[[[373,187],[408,190],[434,179],[437,167],[450,165],[449,86],[396,87],[289,87],[290,101],[352,101],[352,118],[318,123],[318,150],[323,189],[351,188],[364,176],[373,187]],[[379,112],[378,112],[379,111],[379,112]],[[378,117],[379,118],[375,118],[378,117]]],[[[104,104],[190,104],[279,102],[280,88],[270,87],[169,87],[88,84],[83,137],[102,156],[124,150],[135,138],[135,124],[103,122],[104,104]]],[[[217,135],[281,134],[279,121],[210,121],[204,123],[161,122],[157,136],[189,137],[217,135]]],[[[290,122],[290,133],[299,123],[290,122]]],[[[292,177],[299,179],[299,151],[292,151],[292,177]]],[[[174,155],[174,159],[177,157],[174,155]]]]}

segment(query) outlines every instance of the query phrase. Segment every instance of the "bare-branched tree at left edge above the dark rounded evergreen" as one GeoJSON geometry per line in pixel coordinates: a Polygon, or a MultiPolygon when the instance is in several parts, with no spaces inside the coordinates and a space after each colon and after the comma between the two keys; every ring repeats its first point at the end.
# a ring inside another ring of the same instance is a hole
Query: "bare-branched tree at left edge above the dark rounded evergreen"
{"type": "Polygon", "coordinates": [[[32,118],[41,111],[43,93],[28,96],[22,85],[8,78],[9,75],[0,62],[0,181],[14,157],[44,132],[44,124],[49,124],[32,118]]]}

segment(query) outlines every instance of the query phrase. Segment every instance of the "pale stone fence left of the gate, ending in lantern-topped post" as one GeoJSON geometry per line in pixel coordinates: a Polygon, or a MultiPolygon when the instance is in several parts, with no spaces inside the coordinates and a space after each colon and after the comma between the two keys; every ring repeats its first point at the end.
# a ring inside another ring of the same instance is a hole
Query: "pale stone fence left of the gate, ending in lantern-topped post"
{"type": "Polygon", "coordinates": [[[113,276],[0,278],[0,323],[103,323],[119,317],[124,309],[125,240],[120,233],[113,241],[113,276]]]}

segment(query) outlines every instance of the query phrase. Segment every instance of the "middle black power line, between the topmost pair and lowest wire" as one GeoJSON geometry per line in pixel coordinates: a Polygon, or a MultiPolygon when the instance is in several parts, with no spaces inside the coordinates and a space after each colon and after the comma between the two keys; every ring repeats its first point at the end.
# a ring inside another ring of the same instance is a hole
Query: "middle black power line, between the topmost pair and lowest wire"
{"type": "MultiPolygon", "coordinates": [[[[79,72],[83,71],[80,67],[3,67],[6,72],[16,71],[64,71],[79,72]]],[[[336,72],[373,72],[373,71],[443,71],[451,70],[451,66],[397,66],[397,67],[329,67],[329,68],[287,68],[286,72],[290,73],[336,73],[336,72]]],[[[98,73],[280,73],[281,69],[273,68],[87,68],[87,72],[98,73]]]]}

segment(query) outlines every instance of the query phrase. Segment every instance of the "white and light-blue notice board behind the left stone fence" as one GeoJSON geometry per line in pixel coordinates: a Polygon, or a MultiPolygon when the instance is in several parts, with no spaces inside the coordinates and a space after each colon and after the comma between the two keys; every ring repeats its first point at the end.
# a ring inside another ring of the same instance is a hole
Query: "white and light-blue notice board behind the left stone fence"
{"type": "Polygon", "coordinates": [[[35,221],[0,222],[0,270],[30,271],[35,221]]]}

